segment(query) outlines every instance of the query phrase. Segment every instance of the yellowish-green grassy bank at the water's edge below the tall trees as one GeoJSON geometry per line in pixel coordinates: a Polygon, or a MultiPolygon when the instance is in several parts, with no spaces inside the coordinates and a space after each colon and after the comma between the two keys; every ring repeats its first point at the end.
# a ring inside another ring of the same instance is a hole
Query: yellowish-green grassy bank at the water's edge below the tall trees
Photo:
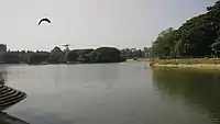
{"type": "Polygon", "coordinates": [[[178,68],[207,68],[220,69],[220,58],[215,59],[151,59],[150,66],[153,67],[178,67],[178,68]]]}

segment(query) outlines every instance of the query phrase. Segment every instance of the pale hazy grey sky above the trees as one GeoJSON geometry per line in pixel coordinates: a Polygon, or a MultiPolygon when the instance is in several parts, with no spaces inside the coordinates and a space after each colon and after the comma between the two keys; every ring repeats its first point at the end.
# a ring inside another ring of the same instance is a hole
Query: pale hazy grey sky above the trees
{"type": "Polygon", "coordinates": [[[158,33],[206,12],[215,0],[0,0],[0,43],[9,49],[143,48],[158,33]],[[52,23],[37,22],[42,18],[52,23]]]}

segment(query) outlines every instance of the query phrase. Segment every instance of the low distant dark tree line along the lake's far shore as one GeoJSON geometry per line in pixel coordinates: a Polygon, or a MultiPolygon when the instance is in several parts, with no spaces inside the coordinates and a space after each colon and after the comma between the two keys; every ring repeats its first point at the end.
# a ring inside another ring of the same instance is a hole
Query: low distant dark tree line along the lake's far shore
{"type": "Polygon", "coordinates": [[[76,63],[120,63],[128,58],[147,56],[148,49],[116,47],[99,47],[97,49],[65,49],[54,47],[51,52],[45,50],[14,50],[6,52],[0,56],[3,64],[76,64],[76,63]]]}

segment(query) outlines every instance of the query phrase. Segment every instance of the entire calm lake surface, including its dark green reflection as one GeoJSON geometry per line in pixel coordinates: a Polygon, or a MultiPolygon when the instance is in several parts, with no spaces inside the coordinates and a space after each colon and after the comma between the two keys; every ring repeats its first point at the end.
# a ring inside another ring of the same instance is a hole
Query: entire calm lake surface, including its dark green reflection
{"type": "Polygon", "coordinates": [[[30,124],[212,124],[220,72],[152,69],[144,63],[0,66],[28,93],[7,110],[30,124]]]}

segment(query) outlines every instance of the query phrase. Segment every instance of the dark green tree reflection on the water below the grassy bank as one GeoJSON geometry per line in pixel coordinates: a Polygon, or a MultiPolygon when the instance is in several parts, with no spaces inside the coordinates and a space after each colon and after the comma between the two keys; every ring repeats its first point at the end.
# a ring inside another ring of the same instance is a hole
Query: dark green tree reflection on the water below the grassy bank
{"type": "Polygon", "coordinates": [[[161,95],[182,99],[204,111],[213,123],[220,120],[220,72],[155,68],[154,87],[161,95]]]}

